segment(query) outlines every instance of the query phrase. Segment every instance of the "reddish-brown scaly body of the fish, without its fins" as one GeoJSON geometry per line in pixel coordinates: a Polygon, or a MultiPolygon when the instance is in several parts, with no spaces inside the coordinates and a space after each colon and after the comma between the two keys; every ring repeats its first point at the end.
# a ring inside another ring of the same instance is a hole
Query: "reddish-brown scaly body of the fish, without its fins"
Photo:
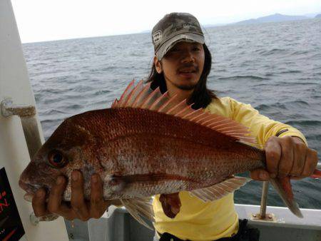
{"type": "MultiPolygon", "coordinates": [[[[43,173],[43,183],[50,187],[55,178],[46,180],[49,173],[70,178],[72,170],[81,170],[85,183],[99,173],[106,200],[128,199],[205,188],[234,173],[261,168],[263,160],[263,151],[203,125],[144,109],[111,108],[65,120],[21,180],[26,175],[29,183],[38,183],[43,173]],[[60,150],[64,143],[72,147],[60,150]],[[48,150],[65,153],[68,164],[57,170],[42,162],[48,150]],[[31,170],[37,171],[30,177],[31,170]]],[[[65,200],[70,200],[69,192],[67,188],[65,200]]]]}

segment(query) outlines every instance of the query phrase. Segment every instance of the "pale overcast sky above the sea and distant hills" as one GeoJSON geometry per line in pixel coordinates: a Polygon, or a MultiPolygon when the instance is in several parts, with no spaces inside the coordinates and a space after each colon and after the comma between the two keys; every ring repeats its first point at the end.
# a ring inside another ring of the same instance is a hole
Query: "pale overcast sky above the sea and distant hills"
{"type": "MultiPolygon", "coordinates": [[[[0,0],[1,1],[1,0],[0,0]]],[[[321,12],[320,0],[11,0],[21,41],[139,33],[165,14],[189,12],[200,24],[228,24],[270,14],[321,12]]]]}

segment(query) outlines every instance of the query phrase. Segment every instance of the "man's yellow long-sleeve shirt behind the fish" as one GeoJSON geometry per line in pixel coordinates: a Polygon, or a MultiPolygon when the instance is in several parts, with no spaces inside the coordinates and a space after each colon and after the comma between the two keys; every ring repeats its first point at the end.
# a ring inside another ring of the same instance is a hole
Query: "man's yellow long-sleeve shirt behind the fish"
{"type": "MultiPolygon", "coordinates": [[[[305,137],[299,130],[262,116],[252,106],[235,101],[233,98],[215,99],[205,110],[247,126],[261,145],[264,145],[270,136],[277,135],[285,129],[287,131],[281,133],[280,137],[297,136],[306,143],[305,137]]],[[[233,193],[213,202],[203,202],[190,196],[188,192],[179,193],[179,197],[182,206],[173,219],[164,214],[159,195],[154,199],[153,210],[156,216],[154,225],[158,232],[169,232],[182,240],[218,240],[222,237],[231,237],[238,232],[238,214],[235,212],[233,193]]]]}

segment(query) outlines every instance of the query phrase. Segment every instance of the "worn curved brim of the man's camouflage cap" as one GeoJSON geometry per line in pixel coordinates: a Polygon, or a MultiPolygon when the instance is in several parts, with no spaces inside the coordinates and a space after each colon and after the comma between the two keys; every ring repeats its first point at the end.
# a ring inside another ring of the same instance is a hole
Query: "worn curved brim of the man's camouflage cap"
{"type": "Polygon", "coordinates": [[[196,42],[196,43],[205,43],[205,39],[203,35],[200,34],[193,34],[193,33],[184,33],[178,34],[174,36],[172,39],[168,39],[163,45],[156,51],[156,57],[159,61],[165,56],[165,54],[178,42],[196,42]]]}

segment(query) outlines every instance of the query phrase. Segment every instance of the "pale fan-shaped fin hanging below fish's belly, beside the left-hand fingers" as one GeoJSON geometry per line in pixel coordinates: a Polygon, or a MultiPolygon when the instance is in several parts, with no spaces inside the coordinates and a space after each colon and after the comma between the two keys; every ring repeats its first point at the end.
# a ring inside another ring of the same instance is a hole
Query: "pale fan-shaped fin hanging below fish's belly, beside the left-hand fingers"
{"type": "Polygon", "coordinates": [[[153,227],[148,225],[142,217],[146,217],[151,222],[155,222],[155,215],[151,197],[149,198],[135,198],[135,199],[121,199],[121,203],[126,207],[128,212],[139,222],[141,225],[153,230],[153,227]]]}

